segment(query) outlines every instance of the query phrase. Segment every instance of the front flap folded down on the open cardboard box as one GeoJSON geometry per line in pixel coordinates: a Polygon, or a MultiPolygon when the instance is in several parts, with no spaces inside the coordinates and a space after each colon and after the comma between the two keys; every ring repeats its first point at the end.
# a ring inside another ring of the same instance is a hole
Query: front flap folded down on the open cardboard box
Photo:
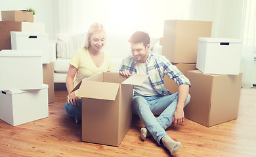
{"type": "Polygon", "coordinates": [[[79,86],[77,96],[93,99],[115,100],[118,90],[119,84],[116,83],[83,80],[79,86]]]}

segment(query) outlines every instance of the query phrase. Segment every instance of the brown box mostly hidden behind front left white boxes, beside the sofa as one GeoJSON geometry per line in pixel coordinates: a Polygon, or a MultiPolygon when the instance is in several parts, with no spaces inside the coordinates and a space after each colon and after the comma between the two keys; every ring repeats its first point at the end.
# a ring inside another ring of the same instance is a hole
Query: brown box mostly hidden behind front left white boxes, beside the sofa
{"type": "Polygon", "coordinates": [[[48,84],[48,102],[54,102],[53,62],[43,64],[43,84],[48,84]]]}

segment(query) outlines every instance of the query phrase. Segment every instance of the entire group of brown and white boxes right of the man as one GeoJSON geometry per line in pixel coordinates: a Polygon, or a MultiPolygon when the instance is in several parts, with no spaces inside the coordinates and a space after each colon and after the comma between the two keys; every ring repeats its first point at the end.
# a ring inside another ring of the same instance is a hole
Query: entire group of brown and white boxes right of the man
{"type": "MultiPolygon", "coordinates": [[[[185,118],[207,127],[237,118],[242,82],[241,42],[210,38],[211,26],[211,22],[167,20],[162,41],[163,56],[192,84],[185,118]]],[[[165,77],[164,82],[177,92],[173,80],[165,77]]]]}

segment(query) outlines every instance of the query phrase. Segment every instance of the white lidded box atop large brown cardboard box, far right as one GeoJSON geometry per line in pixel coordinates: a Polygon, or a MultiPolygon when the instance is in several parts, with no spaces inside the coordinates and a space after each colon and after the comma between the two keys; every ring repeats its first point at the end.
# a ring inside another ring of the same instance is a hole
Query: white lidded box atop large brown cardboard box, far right
{"type": "Polygon", "coordinates": [[[210,127],[238,117],[242,41],[200,38],[196,67],[188,71],[190,103],[186,118],[210,127]]]}

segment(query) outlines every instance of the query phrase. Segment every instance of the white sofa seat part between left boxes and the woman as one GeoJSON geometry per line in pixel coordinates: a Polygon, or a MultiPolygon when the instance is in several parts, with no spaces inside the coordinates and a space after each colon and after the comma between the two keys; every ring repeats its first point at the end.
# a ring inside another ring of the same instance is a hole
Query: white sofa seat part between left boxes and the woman
{"type": "Polygon", "coordinates": [[[54,73],[68,73],[70,59],[58,59],[54,61],[54,73]]]}

